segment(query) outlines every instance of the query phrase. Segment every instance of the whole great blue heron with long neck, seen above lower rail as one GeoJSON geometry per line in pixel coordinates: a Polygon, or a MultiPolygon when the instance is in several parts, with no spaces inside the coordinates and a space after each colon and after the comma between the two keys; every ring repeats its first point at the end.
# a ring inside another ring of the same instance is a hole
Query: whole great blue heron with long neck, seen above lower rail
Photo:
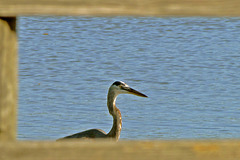
{"type": "Polygon", "coordinates": [[[105,133],[101,129],[90,129],[80,133],[76,133],[58,140],[68,139],[68,138],[111,138],[118,141],[120,132],[122,129],[122,116],[120,110],[116,107],[116,98],[119,94],[134,94],[140,97],[147,97],[146,95],[132,89],[126,83],[122,81],[114,82],[109,90],[107,96],[107,106],[109,113],[113,117],[113,126],[109,133],[105,133]]]}

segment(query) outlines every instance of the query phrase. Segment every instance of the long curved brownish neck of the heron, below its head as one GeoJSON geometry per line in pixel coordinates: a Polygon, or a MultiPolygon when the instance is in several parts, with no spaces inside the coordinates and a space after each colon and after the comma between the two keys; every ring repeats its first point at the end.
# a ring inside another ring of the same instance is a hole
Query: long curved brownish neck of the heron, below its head
{"type": "Polygon", "coordinates": [[[117,141],[120,137],[120,132],[122,129],[122,116],[120,110],[116,107],[116,98],[117,95],[114,92],[111,92],[111,90],[109,90],[107,105],[109,113],[113,117],[113,126],[107,136],[116,139],[117,141]]]}

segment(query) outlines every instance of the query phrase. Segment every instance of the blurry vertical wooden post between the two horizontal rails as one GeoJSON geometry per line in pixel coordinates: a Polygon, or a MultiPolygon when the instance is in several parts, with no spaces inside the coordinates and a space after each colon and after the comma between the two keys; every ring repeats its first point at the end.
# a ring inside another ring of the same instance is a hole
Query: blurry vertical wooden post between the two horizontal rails
{"type": "Polygon", "coordinates": [[[0,18],[0,141],[16,138],[16,18],[0,18]]]}

